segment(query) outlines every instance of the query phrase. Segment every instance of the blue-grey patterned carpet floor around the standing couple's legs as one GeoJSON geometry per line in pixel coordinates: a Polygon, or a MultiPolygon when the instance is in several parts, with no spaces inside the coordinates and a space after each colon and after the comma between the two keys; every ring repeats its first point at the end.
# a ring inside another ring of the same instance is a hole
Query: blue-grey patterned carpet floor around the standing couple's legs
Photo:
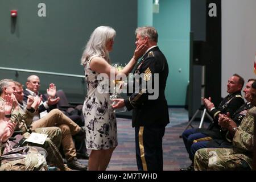
{"type": "MultiPolygon", "coordinates": [[[[183,140],[179,138],[188,123],[188,112],[185,109],[169,109],[171,123],[167,125],[163,138],[164,171],[179,170],[191,164],[183,140]]],[[[199,125],[194,122],[193,126],[199,125]]],[[[113,152],[108,171],[137,171],[135,159],[134,129],[131,119],[117,118],[118,146],[113,152]]],[[[88,151],[89,152],[89,151],[88,151]]],[[[80,160],[87,164],[88,160],[80,160]]]]}

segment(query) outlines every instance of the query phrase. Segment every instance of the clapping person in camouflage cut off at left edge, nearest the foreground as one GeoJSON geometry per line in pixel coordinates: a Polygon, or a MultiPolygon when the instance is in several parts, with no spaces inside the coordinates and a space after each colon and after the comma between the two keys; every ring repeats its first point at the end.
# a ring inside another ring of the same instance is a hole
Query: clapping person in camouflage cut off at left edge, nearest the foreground
{"type": "MultiPolygon", "coordinates": [[[[0,81],[0,86],[3,84],[0,81]]],[[[0,89],[0,94],[2,93],[0,89]]],[[[10,97],[10,96],[9,96],[10,97]]],[[[11,99],[9,99],[11,101],[11,99]]],[[[11,103],[12,104],[12,103],[11,103]]],[[[13,135],[16,123],[9,121],[12,105],[6,102],[0,103],[0,171],[46,171],[48,169],[46,159],[39,154],[34,147],[16,148],[11,147],[9,138],[13,135]],[[9,109],[7,109],[9,108],[9,109]],[[13,156],[7,158],[8,152],[13,152],[13,156]],[[20,156],[19,152],[22,152],[20,156]],[[15,159],[14,159],[15,158],[15,159]]]]}

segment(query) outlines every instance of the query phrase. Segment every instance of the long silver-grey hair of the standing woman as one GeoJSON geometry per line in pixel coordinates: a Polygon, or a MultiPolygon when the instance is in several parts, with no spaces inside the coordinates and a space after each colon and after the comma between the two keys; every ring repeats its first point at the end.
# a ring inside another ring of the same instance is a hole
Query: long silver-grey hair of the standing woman
{"type": "Polygon", "coordinates": [[[84,65],[92,56],[103,57],[109,62],[109,51],[106,50],[106,43],[113,39],[114,36],[115,30],[112,27],[97,27],[90,35],[90,39],[82,53],[81,65],[84,65]]]}

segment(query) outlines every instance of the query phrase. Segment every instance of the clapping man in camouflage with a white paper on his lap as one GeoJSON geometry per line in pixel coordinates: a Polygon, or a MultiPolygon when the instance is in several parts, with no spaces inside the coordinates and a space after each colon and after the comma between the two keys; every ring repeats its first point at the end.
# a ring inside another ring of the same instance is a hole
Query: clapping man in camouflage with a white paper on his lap
{"type": "MultiPolygon", "coordinates": [[[[15,84],[15,101],[16,104],[19,107],[19,113],[23,117],[19,119],[18,126],[16,127],[15,131],[22,131],[22,135],[24,138],[30,137],[30,130],[28,129],[28,125],[31,125],[32,118],[34,116],[35,110],[38,109],[38,106],[40,104],[40,97],[36,96],[28,96],[27,100],[27,106],[24,108],[23,106],[23,88],[22,84],[19,82],[14,82],[15,84]]],[[[10,93],[9,93],[10,94],[10,93]]],[[[61,130],[59,127],[41,127],[37,128],[35,130],[32,130],[33,133],[39,133],[39,134],[46,134],[48,135],[46,141],[44,144],[36,144],[36,143],[24,143],[25,145],[30,146],[39,146],[43,147],[47,150],[47,163],[49,166],[56,166],[61,171],[69,171],[68,167],[64,165],[62,156],[60,154],[60,151],[58,148],[60,148],[61,145],[61,130]]]]}

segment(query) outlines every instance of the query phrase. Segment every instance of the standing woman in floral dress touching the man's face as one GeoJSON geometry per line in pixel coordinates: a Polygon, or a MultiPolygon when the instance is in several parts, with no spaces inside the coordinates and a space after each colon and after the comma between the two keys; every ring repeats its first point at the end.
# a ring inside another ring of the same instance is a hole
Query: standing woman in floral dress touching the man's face
{"type": "Polygon", "coordinates": [[[139,57],[147,47],[137,47],[134,55],[122,71],[109,63],[109,52],[114,44],[115,30],[111,27],[97,27],[90,36],[82,54],[81,64],[84,65],[87,96],[82,109],[85,117],[86,147],[91,151],[88,169],[105,170],[112,153],[117,146],[117,122],[111,106],[110,91],[107,84],[112,77],[131,72],[139,57]]]}

